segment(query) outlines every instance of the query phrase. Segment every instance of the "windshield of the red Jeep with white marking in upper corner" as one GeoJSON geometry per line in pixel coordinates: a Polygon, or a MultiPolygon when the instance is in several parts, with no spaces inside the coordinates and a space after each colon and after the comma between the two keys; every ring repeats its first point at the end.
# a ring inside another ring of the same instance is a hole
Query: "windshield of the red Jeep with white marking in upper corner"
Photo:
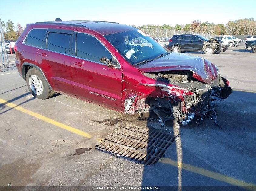
{"type": "Polygon", "coordinates": [[[132,65],[154,59],[167,51],[141,30],[131,30],[104,36],[132,65]]]}

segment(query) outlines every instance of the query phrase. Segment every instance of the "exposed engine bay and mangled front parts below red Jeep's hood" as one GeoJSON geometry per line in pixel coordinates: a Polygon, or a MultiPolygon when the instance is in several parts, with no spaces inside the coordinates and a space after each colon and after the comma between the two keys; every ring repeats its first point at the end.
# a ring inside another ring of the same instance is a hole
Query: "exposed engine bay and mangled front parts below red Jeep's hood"
{"type": "MultiPolygon", "coordinates": [[[[228,86],[227,80],[220,75],[211,84],[198,81],[193,77],[192,71],[164,71],[144,73],[145,76],[154,78],[168,84],[185,88],[190,93],[183,94],[182,100],[175,99],[180,96],[171,94],[170,87],[163,84],[156,84],[156,88],[166,91],[167,96],[150,97],[139,100],[136,104],[138,109],[136,112],[143,113],[155,112],[158,116],[158,122],[161,126],[168,120],[173,120],[175,126],[179,128],[179,123],[187,125],[195,118],[196,123],[202,123],[205,118],[211,117],[216,126],[221,127],[217,123],[217,113],[214,110],[216,104],[214,101],[224,101],[231,93],[232,89],[228,86]]],[[[149,84],[144,84],[149,85],[149,84]]],[[[151,85],[153,86],[153,85],[151,85]]]]}

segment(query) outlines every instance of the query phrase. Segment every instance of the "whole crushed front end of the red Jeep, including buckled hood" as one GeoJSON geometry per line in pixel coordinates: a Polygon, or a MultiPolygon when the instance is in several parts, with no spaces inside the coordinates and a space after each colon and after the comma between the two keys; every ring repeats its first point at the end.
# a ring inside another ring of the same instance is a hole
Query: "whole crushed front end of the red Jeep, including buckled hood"
{"type": "Polygon", "coordinates": [[[141,74],[154,79],[155,83],[139,83],[140,91],[130,94],[125,100],[125,113],[137,112],[142,116],[154,112],[161,126],[173,120],[178,128],[192,119],[199,124],[211,117],[220,127],[214,102],[224,101],[232,93],[228,80],[220,76],[215,65],[200,57],[179,54],[178,60],[173,59],[168,64],[171,54],[139,68],[141,74]],[[177,64],[181,63],[180,60],[183,60],[183,65],[177,64]],[[188,66],[187,60],[193,62],[194,67],[188,66]]]}

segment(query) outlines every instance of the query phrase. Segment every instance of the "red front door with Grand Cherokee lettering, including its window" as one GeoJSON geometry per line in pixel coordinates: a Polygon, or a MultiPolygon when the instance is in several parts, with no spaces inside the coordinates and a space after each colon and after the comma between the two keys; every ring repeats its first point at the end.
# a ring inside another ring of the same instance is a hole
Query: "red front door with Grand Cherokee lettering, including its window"
{"type": "Polygon", "coordinates": [[[122,71],[100,62],[114,57],[100,40],[88,33],[74,34],[71,68],[75,95],[107,107],[121,110],[122,71]]]}

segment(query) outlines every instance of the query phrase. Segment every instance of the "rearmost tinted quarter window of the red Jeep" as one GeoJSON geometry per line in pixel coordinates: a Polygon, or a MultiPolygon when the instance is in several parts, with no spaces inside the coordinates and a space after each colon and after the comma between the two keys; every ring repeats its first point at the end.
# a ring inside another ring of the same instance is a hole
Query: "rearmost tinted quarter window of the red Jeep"
{"type": "Polygon", "coordinates": [[[45,33],[47,29],[33,29],[28,33],[27,38],[25,39],[24,43],[29,44],[32,46],[41,47],[45,33]]]}

